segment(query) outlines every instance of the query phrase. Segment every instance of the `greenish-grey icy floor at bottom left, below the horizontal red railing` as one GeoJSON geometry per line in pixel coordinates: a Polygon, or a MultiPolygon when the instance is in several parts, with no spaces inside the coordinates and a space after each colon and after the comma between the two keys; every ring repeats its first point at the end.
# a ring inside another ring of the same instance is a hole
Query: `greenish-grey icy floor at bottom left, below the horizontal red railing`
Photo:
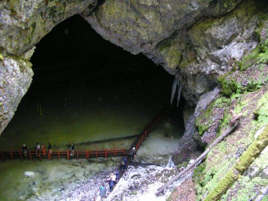
{"type": "Polygon", "coordinates": [[[119,160],[5,161],[0,166],[0,200],[74,200],[70,198],[83,191],[93,196],[119,160]],[[33,175],[26,176],[26,171],[33,175]]]}

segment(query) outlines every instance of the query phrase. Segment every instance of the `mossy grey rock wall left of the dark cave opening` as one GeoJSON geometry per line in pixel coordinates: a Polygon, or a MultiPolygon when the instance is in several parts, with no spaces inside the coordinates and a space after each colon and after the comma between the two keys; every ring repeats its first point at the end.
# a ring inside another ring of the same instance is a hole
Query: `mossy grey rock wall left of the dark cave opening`
{"type": "MultiPolygon", "coordinates": [[[[61,21],[96,7],[95,0],[0,2],[0,134],[12,119],[33,76],[34,45],[61,21]]],[[[47,55],[49,59],[49,55],[47,55]]]]}

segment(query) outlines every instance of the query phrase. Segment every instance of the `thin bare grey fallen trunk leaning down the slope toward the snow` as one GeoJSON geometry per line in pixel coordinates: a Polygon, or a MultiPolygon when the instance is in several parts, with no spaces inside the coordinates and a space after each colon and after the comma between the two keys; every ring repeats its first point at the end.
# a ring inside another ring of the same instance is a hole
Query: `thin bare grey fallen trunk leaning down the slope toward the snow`
{"type": "Polygon", "coordinates": [[[203,158],[205,158],[205,156],[210,152],[210,150],[212,149],[212,147],[214,147],[216,144],[218,144],[219,142],[221,142],[226,136],[228,136],[234,130],[234,128],[238,125],[238,122],[239,122],[239,117],[237,117],[236,120],[235,120],[235,122],[231,126],[229,126],[227,129],[225,129],[222,132],[222,134],[216,140],[214,140],[213,143],[211,143],[208,146],[208,148],[191,165],[189,165],[182,172],[178,173],[176,176],[174,176],[168,182],[166,182],[164,185],[162,185],[160,188],[158,188],[157,189],[157,192],[155,193],[155,195],[158,196],[166,187],[168,187],[169,185],[171,185],[174,181],[176,181],[178,178],[180,178],[181,176],[183,176],[189,169],[191,169],[192,167],[194,167],[200,160],[202,160],[203,158]]]}

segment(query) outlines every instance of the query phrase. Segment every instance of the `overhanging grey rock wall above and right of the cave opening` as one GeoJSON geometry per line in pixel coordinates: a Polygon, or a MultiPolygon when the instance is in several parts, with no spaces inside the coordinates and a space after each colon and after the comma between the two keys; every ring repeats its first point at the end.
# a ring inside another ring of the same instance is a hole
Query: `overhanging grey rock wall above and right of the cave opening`
{"type": "MultiPolygon", "coordinates": [[[[262,2],[263,5],[263,2],[262,2]]],[[[106,40],[142,52],[170,74],[196,104],[217,77],[255,48],[261,1],[106,1],[83,17],[106,40]]]]}

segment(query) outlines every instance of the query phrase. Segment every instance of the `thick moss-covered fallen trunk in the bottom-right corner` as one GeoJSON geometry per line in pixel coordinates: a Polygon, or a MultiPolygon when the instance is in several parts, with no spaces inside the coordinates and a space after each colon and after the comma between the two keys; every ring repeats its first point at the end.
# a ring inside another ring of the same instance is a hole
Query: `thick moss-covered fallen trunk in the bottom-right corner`
{"type": "Polygon", "coordinates": [[[233,167],[227,172],[218,185],[207,195],[204,201],[214,201],[220,197],[233,185],[233,183],[243,174],[249,165],[258,157],[263,149],[268,145],[268,124],[256,140],[235,162],[233,167]]]}

